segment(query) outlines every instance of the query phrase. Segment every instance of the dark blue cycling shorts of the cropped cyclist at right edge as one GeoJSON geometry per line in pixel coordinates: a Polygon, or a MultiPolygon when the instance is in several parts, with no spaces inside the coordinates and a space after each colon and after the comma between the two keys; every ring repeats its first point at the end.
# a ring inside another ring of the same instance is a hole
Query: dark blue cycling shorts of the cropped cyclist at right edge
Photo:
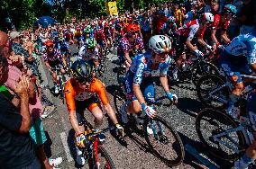
{"type": "Polygon", "coordinates": [[[252,73],[245,57],[236,57],[227,53],[226,51],[221,53],[220,65],[224,70],[225,75],[236,83],[242,82],[241,74],[251,75],[252,73]]]}

